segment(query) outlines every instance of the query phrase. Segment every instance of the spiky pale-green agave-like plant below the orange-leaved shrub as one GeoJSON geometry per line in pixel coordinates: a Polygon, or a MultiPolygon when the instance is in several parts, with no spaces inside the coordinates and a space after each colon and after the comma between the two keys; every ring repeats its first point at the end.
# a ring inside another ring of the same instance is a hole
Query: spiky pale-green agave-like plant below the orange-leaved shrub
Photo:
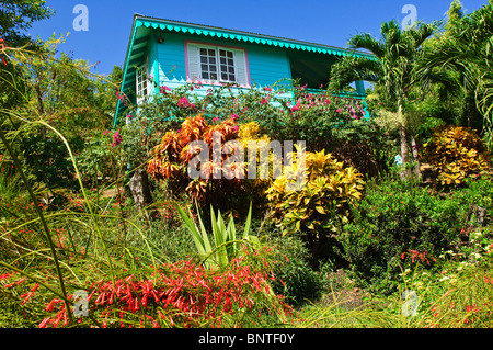
{"type": "Polygon", "coordinates": [[[256,247],[260,245],[259,238],[251,235],[252,205],[250,205],[249,215],[241,238],[237,236],[237,228],[232,215],[229,217],[228,224],[226,224],[221,212],[218,211],[216,216],[213,206],[210,206],[213,239],[209,239],[209,234],[204,225],[198,205],[196,205],[196,208],[199,227],[197,227],[190,207],[187,208],[188,213],[185,213],[185,211],[176,204],[176,210],[192,235],[205,268],[226,268],[233,258],[238,257],[241,245],[251,244],[256,247]]]}

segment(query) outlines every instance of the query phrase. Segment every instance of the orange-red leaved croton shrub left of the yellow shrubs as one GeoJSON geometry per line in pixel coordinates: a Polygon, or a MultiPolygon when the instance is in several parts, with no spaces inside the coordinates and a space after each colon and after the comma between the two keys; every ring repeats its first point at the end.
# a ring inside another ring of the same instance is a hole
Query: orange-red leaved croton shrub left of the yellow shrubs
{"type": "MultiPolygon", "coordinates": [[[[168,180],[172,193],[187,193],[203,207],[238,207],[234,202],[241,203],[238,194],[244,191],[246,166],[244,157],[228,166],[234,149],[226,149],[226,143],[238,142],[239,133],[240,126],[233,118],[208,124],[202,115],[187,117],[180,131],[170,131],[163,136],[153,150],[147,171],[156,180],[168,180]],[[218,139],[214,139],[218,135],[218,139]],[[194,145],[194,142],[203,142],[206,149],[194,145]],[[203,157],[203,153],[207,156],[203,157]],[[219,157],[215,156],[216,153],[219,157]],[[194,167],[199,176],[191,177],[190,167],[194,167]],[[225,200],[230,206],[225,205],[225,200]]],[[[241,149],[241,142],[237,145],[241,149]]]]}

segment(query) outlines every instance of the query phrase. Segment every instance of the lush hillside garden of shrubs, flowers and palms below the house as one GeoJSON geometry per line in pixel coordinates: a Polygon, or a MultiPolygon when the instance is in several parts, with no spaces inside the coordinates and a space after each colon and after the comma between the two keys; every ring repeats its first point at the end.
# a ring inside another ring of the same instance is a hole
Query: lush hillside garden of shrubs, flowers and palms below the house
{"type": "Polygon", "coordinates": [[[357,35],[378,59],[344,58],[317,93],[156,86],[142,105],[118,67],[94,75],[9,23],[0,327],[492,327],[492,10],[357,35]],[[366,101],[340,93],[355,80],[366,101]],[[197,142],[213,155],[195,179],[197,142]]]}

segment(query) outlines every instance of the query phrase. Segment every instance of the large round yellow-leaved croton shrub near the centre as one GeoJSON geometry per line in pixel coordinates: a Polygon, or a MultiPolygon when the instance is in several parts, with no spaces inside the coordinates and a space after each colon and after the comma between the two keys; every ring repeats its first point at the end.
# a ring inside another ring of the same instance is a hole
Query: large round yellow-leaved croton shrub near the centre
{"type": "Polygon", "coordinates": [[[363,176],[324,150],[307,151],[305,159],[305,166],[298,165],[293,153],[293,165],[267,189],[272,217],[284,234],[337,232],[348,222],[349,206],[363,196],[363,176]]]}

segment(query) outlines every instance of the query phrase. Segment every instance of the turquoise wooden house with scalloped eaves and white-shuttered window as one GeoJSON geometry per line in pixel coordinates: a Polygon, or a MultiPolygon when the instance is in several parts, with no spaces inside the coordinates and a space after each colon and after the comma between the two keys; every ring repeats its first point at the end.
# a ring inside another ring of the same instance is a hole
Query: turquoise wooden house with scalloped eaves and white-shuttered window
{"type": "MultiPolygon", "coordinates": [[[[345,55],[369,56],[334,46],[284,37],[226,30],[135,14],[125,57],[121,91],[140,104],[156,93],[202,82],[210,88],[236,82],[238,89],[272,87],[278,81],[300,79],[318,89],[330,78],[331,66],[345,55]]],[[[363,81],[356,81],[355,98],[365,98],[363,81]]],[[[290,98],[290,95],[286,97],[290,98]]],[[[125,112],[118,100],[114,125],[125,112]]]]}

